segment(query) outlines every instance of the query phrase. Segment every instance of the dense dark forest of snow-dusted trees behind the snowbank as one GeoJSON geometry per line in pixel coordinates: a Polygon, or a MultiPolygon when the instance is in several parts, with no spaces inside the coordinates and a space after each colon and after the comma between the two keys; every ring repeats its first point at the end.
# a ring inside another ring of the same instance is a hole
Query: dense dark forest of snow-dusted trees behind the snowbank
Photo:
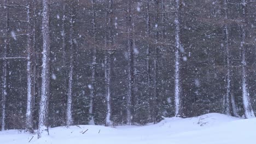
{"type": "Polygon", "coordinates": [[[1,0],[2,130],[256,112],[256,1],[1,0]]]}

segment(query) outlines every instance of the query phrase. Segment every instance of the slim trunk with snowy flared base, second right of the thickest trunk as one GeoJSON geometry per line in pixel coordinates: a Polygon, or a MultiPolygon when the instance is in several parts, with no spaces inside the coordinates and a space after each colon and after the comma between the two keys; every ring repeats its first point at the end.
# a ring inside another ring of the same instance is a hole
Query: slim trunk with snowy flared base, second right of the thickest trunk
{"type": "Polygon", "coordinates": [[[91,85],[90,85],[90,121],[89,124],[94,125],[94,97],[95,97],[95,66],[96,66],[96,23],[95,23],[95,0],[91,0],[92,3],[92,64],[91,64],[91,85]]]}

